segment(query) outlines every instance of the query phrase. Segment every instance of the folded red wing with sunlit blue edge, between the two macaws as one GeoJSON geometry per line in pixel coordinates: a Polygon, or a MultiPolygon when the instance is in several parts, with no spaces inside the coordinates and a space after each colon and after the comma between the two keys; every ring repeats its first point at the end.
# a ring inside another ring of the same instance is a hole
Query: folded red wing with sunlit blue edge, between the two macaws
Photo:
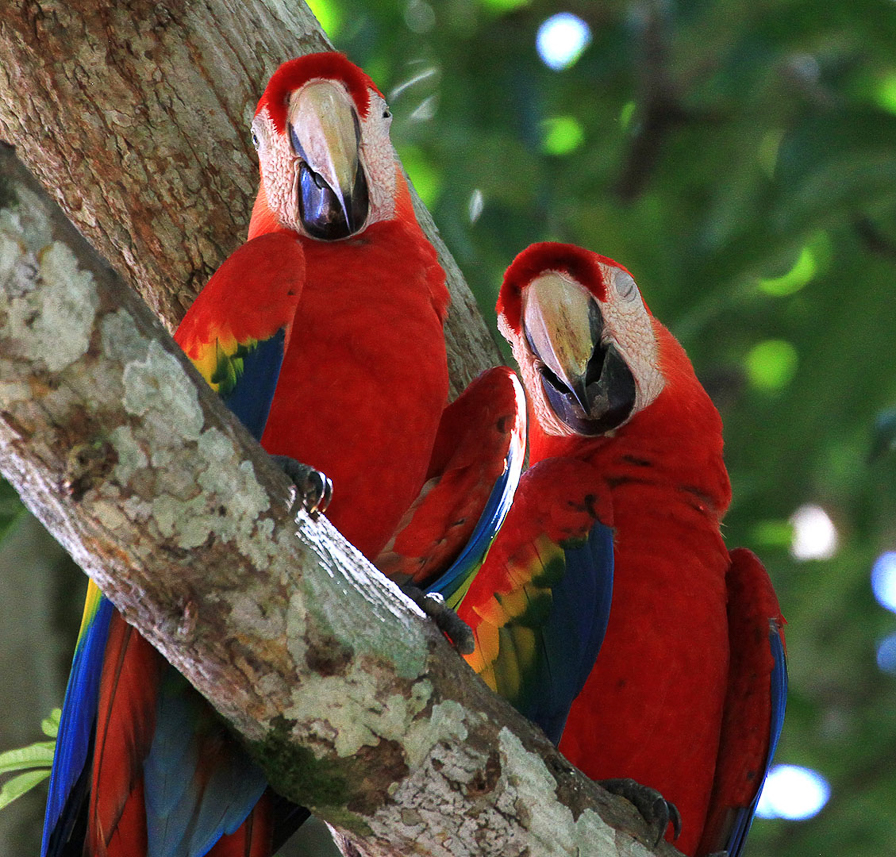
{"type": "Polygon", "coordinates": [[[483,372],[442,414],[427,481],[377,557],[397,583],[456,604],[495,538],[526,453],[523,388],[505,366],[483,372]],[[450,570],[449,570],[450,567],[450,570]]]}

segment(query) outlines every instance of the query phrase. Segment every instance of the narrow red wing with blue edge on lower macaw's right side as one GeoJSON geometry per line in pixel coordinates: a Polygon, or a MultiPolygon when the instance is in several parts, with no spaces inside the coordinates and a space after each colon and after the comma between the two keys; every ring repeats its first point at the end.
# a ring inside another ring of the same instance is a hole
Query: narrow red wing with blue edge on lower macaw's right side
{"type": "Polygon", "coordinates": [[[787,698],[784,617],[771,581],[750,551],[731,551],[728,570],[728,691],[719,758],[698,853],[738,857],[774,756],[787,698]]]}

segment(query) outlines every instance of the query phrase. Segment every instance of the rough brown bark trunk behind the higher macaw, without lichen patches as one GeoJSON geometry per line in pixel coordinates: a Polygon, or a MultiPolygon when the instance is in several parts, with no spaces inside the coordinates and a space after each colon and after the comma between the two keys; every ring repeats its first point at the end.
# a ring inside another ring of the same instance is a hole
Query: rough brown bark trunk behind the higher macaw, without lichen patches
{"type": "MultiPolygon", "coordinates": [[[[0,139],[173,330],[245,239],[257,188],[248,127],[268,77],[329,47],[299,0],[11,0],[0,4],[0,139]]],[[[422,220],[449,274],[456,393],[500,358],[422,220]]]]}

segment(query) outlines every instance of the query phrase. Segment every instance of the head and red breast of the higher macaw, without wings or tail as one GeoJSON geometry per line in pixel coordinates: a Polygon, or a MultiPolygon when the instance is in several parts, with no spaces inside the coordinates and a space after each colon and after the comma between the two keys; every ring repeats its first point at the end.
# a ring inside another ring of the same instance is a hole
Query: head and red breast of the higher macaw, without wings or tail
{"type": "Polygon", "coordinates": [[[284,63],[252,123],[262,181],[249,238],[302,235],[306,266],[288,394],[274,396],[262,446],[333,480],[327,516],[369,559],[420,492],[448,397],[445,275],[390,123],[370,78],[335,53],[284,63]]]}

